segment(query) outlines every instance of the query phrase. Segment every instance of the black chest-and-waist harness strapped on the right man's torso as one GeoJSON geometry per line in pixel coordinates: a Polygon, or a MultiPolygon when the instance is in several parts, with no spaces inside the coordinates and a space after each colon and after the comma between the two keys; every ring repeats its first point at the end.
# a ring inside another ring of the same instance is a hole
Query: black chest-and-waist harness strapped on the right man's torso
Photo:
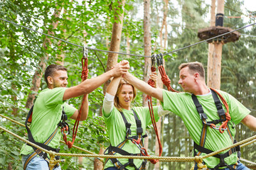
{"type": "MultiPolygon", "coordinates": [[[[227,130],[230,140],[232,140],[232,142],[235,143],[235,140],[233,140],[233,135],[231,134],[230,128],[228,125],[226,125],[225,128],[216,127],[216,124],[225,122],[227,120],[226,115],[228,113],[228,107],[227,107],[228,105],[227,106],[225,105],[226,110],[227,110],[227,113],[225,113],[222,103],[220,103],[220,99],[218,98],[218,95],[220,96],[220,94],[217,95],[217,91],[215,89],[211,89],[211,88],[210,88],[210,92],[213,96],[213,100],[214,100],[215,106],[218,111],[218,116],[220,117],[220,119],[218,119],[218,120],[206,121],[207,115],[206,115],[206,113],[203,112],[203,107],[199,103],[198,98],[196,98],[196,96],[194,94],[192,94],[192,96],[191,96],[193,99],[193,103],[196,106],[196,110],[198,111],[198,114],[200,115],[200,118],[203,123],[203,128],[201,131],[200,145],[198,145],[198,144],[196,144],[196,142],[194,142],[194,149],[193,149],[194,156],[199,156],[202,152],[206,153],[206,154],[210,154],[213,152],[210,149],[206,149],[204,147],[204,145],[206,143],[206,133],[207,133],[208,127],[213,128],[215,130],[221,130],[221,132],[224,132],[224,130],[227,130]],[[196,149],[198,150],[198,152],[196,152],[196,149]]],[[[221,96],[220,98],[223,98],[223,97],[221,96]]],[[[228,115],[229,115],[229,113],[228,113],[228,115]]],[[[229,115],[229,117],[230,117],[230,115],[229,115]]],[[[238,162],[233,165],[228,165],[225,163],[225,160],[224,160],[226,157],[229,157],[231,154],[233,154],[235,152],[240,152],[239,146],[231,148],[230,150],[228,150],[228,152],[225,152],[224,154],[215,154],[213,157],[220,159],[220,164],[216,165],[213,169],[217,170],[220,167],[227,166],[228,169],[235,170],[235,167],[238,165],[238,162]]]]}

